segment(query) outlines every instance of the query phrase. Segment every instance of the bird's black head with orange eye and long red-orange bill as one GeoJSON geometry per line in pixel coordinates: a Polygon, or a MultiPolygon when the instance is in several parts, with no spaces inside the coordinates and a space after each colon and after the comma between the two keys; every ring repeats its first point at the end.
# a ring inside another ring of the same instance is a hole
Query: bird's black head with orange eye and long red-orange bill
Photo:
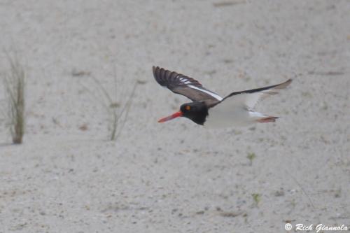
{"type": "Polygon", "coordinates": [[[181,105],[179,112],[169,115],[166,118],[162,118],[158,120],[158,122],[165,122],[167,120],[172,120],[174,118],[178,118],[182,116],[190,120],[193,120],[193,122],[199,125],[203,125],[205,122],[205,119],[207,118],[207,115],[208,115],[208,107],[204,104],[204,102],[192,102],[192,103],[181,105]]]}

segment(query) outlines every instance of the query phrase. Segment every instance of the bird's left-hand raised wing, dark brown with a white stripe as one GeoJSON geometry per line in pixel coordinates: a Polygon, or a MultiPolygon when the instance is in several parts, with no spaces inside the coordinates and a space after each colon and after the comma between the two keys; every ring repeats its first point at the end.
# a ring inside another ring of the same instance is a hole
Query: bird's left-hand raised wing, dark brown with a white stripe
{"type": "Polygon", "coordinates": [[[207,90],[197,80],[181,73],[153,66],[153,76],[161,86],[167,87],[176,94],[182,94],[192,101],[223,100],[223,97],[207,90]]]}

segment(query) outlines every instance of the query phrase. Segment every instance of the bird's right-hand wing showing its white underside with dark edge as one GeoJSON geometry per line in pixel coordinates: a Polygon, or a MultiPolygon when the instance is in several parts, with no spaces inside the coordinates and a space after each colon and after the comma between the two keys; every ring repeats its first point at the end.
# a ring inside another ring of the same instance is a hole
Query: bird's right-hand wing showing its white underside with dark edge
{"type": "MultiPolygon", "coordinates": [[[[292,79],[286,80],[284,83],[261,87],[252,90],[244,90],[241,92],[232,92],[227,97],[223,98],[221,103],[225,105],[225,101],[235,102],[235,105],[246,106],[248,109],[253,109],[256,104],[262,99],[269,97],[272,94],[278,94],[279,90],[286,88],[292,83],[292,79]]],[[[220,104],[221,105],[221,104],[220,104]]]]}

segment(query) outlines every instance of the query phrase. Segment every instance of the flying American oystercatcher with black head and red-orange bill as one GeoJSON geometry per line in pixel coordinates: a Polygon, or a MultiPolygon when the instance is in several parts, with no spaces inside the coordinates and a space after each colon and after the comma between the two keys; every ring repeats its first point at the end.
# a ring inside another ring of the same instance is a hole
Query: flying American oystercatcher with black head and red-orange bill
{"type": "Polygon", "coordinates": [[[153,66],[153,76],[163,87],[176,94],[182,94],[193,102],[181,105],[180,111],[158,120],[165,122],[184,117],[206,127],[246,126],[255,122],[275,122],[277,117],[253,111],[259,100],[287,87],[292,80],[252,90],[232,92],[226,97],[207,90],[197,80],[153,66]]]}

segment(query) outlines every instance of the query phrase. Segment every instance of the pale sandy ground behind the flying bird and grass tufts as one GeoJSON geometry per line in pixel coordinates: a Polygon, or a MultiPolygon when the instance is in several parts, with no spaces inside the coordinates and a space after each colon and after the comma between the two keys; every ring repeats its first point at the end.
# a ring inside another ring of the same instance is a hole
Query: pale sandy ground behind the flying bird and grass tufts
{"type": "Polygon", "coordinates": [[[0,121],[0,232],[350,225],[349,12],[346,0],[1,0],[1,50],[28,78],[25,142],[8,145],[0,121]],[[153,65],[223,95],[295,80],[258,106],[278,122],[207,130],[157,122],[188,100],[159,87],[153,65]],[[146,82],[116,142],[83,87],[92,77],[111,93],[117,77],[120,104],[146,82]]]}

